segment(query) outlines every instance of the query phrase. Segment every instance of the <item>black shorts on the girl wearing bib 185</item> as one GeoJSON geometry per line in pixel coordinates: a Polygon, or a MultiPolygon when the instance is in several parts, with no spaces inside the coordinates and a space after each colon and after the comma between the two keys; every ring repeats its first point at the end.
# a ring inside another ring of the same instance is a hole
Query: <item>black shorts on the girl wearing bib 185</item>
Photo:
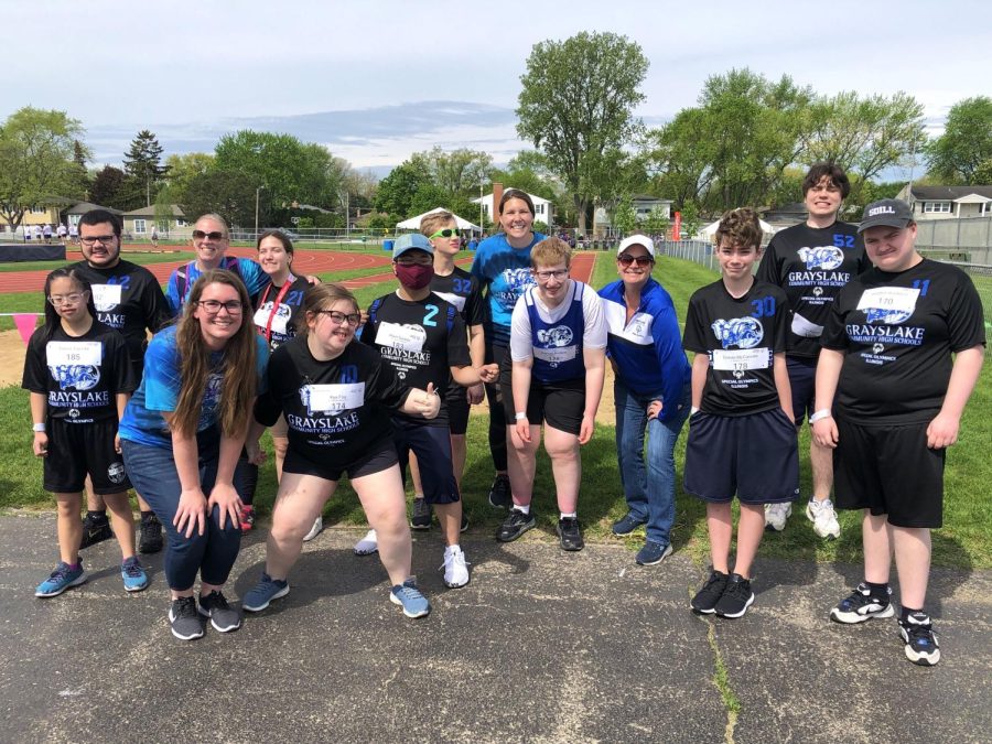
{"type": "Polygon", "coordinates": [[[93,493],[120,494],[131,487],[123,457],[114,449],[117,419],[91,423],[48,420],[48,455],[44,459],[44,488],[53,494],[83,490],[86,475],[93,493]]]}

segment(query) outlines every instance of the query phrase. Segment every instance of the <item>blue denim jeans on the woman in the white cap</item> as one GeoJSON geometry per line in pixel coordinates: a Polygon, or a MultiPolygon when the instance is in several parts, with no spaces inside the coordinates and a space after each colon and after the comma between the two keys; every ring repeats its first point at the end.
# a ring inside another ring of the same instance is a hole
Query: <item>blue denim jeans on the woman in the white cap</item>
{"type": "MultiPolygon", "coordinates": [[[[660,400],[661,392],[640,395],[616,378],[613,385],[616,405],[616,449],[619,453],[621,484],[630,514],[647,521],[647,539],[667,546],[675,521],[675,445],[689,418],[691,388],[687,382],[678,416],[648,420],[647,407],[660,400]],[[647,430],[647,468],[644,462],[644,435],[647,430]]],[[[672,403],[666,403],[666,409],[672,403]]]]}

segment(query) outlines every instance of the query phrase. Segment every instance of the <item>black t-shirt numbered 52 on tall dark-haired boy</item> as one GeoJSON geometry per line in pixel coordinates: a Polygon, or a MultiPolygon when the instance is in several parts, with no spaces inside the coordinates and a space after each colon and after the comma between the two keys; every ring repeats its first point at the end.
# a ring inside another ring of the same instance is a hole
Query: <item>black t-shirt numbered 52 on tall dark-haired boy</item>
{"type": "Polygon", "coordinates": [[[833,223],[817,228],[802,223],[775,234],[755,278],[780,287],[789,299],[789,356],[819,356],[819,337],[834,298],[870,268],[854,225],[833,223]]]}

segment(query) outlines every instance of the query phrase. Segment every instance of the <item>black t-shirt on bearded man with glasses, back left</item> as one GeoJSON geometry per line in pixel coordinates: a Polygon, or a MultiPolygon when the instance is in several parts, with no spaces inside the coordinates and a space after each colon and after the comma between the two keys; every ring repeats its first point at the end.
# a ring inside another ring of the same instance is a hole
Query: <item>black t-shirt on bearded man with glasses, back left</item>
{"type": "Polygon", "coordinates": [[[96,319],[123,334],[131,362],[140,370],[148,346],[147,331],[158,332],[172,317],[159,280],[143,266],[125,260],[111,269],[94,269],[86,261],[69,268],[93,285],[96,319]]]}

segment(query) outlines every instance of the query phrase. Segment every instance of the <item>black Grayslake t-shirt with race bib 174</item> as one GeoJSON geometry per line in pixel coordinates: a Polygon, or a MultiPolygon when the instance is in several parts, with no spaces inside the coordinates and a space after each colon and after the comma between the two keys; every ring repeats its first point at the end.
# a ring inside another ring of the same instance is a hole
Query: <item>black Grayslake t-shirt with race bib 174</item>
{"type": "Polygon", "coordinates": [[[389,413],[409,395],[375,349],[354,342],[317,362],[298,336],[272,352],[266,375],[269,389],[258,397],[255,418],[271,427],[284,413],[290,449],[328,467],[346,468],[391,438],[389,413]]]}

